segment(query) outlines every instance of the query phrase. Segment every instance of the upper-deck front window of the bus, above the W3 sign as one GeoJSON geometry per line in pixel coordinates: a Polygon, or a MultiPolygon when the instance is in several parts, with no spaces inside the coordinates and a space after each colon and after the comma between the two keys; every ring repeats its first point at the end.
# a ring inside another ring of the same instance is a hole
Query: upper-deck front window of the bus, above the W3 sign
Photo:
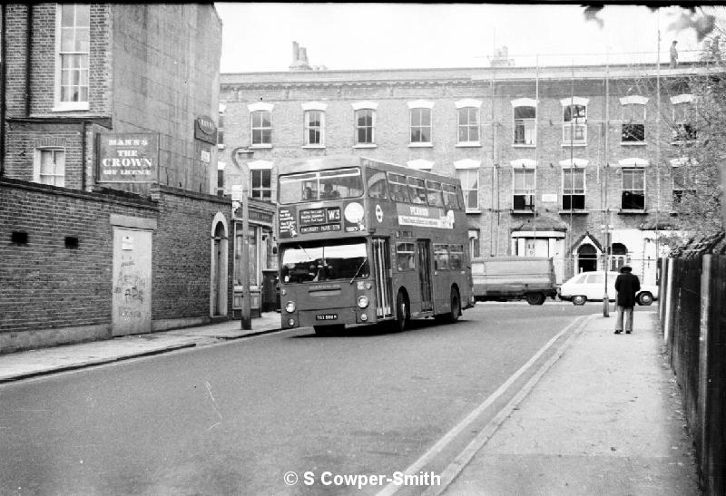
{"type": "Polygon", "coordinates": [[[280,176],[280,203],[357,198],[363,194],[360,168],[320,170],[280,176]]]}

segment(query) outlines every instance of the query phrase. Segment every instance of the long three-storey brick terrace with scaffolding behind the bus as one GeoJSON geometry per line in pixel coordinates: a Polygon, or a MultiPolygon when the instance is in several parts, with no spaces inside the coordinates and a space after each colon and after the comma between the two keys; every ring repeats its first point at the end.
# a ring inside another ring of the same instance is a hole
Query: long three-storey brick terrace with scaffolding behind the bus
{"type": "Polygon", "coordinates": [[[221,74],[220,160],[253,152],[220,171],[221,189],[241,180],[274,199],[287,160],[392,161],[461,180],[475,256],[552,257],[559,282],[628,263],[654,281],[698,67],[329,71],[299,54],[289,72],[221,74]]]}

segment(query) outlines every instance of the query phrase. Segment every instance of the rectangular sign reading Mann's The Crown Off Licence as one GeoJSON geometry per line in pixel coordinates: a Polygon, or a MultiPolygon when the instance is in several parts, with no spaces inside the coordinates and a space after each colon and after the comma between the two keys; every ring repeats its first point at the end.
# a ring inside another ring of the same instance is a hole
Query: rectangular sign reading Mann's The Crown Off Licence
{"type": "Polygon", "coordinates": [[[159,134],[99,134],[96,182],[158,182],[159,134]]]}

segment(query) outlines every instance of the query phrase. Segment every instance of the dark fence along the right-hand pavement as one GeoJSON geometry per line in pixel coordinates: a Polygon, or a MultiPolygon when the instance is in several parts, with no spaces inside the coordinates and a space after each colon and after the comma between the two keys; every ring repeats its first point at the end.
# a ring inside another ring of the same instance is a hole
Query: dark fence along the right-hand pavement
{"type": "MultiPolygon", "coordinates": [[[[721,237],[720,249],[724,248],[721,237]]],[[[711,247],[712,248],[712,247],[711,247]]],[[[726,254],[662,259],[660,323],[701,487],[726,495],[726,254]]]]}

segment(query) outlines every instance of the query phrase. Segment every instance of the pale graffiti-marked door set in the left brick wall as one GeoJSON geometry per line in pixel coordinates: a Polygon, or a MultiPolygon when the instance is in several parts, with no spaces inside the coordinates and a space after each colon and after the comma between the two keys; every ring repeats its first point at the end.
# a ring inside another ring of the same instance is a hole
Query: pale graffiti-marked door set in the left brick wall
{"type": "Polygon", "coordinates": [[[152,332],[152,231],[113,228],[111,331],[152,332]]]}

